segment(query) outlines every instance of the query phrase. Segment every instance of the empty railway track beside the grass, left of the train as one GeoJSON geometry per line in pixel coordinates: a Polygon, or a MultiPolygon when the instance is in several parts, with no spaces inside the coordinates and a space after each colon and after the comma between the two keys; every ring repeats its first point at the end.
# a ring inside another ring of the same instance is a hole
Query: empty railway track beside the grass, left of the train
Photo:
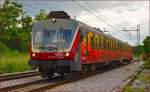
{"type": "Polygon", "coordinates": [[[0,82],[14,80],[14,79],[27,78],[31,76],[37,76],[37,75],[40,75],[38,71],[29,71],[29,72],[15,73],[15,74],[0,75],[0,82]]]}

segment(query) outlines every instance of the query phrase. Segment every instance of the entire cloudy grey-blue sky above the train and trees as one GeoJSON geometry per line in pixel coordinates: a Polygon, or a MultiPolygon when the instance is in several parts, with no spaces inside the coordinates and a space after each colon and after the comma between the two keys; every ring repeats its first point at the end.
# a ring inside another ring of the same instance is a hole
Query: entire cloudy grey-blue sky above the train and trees
{"type": "Polygon", "coordinates": [[[35,16],[39,10],[65,11],[71,18],[76,16],[89,26],[107,30],[110,34],[131,45],[137,44],[136,31],[125,32],[126,29],[135,30],[140,24],[141,43],[149,35],[149,1],[141,0],[16,0],[23,4],[27,15],[35,16]],[[90,11],[90,12],[89,12],[90,11]]]}

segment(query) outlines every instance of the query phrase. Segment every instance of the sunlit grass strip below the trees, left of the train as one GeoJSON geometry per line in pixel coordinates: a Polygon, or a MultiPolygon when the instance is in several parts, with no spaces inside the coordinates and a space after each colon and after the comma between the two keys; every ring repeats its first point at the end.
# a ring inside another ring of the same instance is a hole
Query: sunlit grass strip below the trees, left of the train
{"type": "Polygon", "coordinates": [[[0,56],[0,73],[22,72],[30,70],[27,53],[7,52],[0,56]]]}

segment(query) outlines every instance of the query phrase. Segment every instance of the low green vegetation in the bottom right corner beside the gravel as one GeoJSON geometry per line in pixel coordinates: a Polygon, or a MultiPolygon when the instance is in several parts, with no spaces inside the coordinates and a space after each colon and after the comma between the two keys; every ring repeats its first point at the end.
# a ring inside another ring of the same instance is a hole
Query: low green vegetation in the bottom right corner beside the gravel
{"type": "Polygon", "coordinates": [[[144,61],[143,71],[125,87],[123,92],[150,92],[150,58],[144,61]]]}

